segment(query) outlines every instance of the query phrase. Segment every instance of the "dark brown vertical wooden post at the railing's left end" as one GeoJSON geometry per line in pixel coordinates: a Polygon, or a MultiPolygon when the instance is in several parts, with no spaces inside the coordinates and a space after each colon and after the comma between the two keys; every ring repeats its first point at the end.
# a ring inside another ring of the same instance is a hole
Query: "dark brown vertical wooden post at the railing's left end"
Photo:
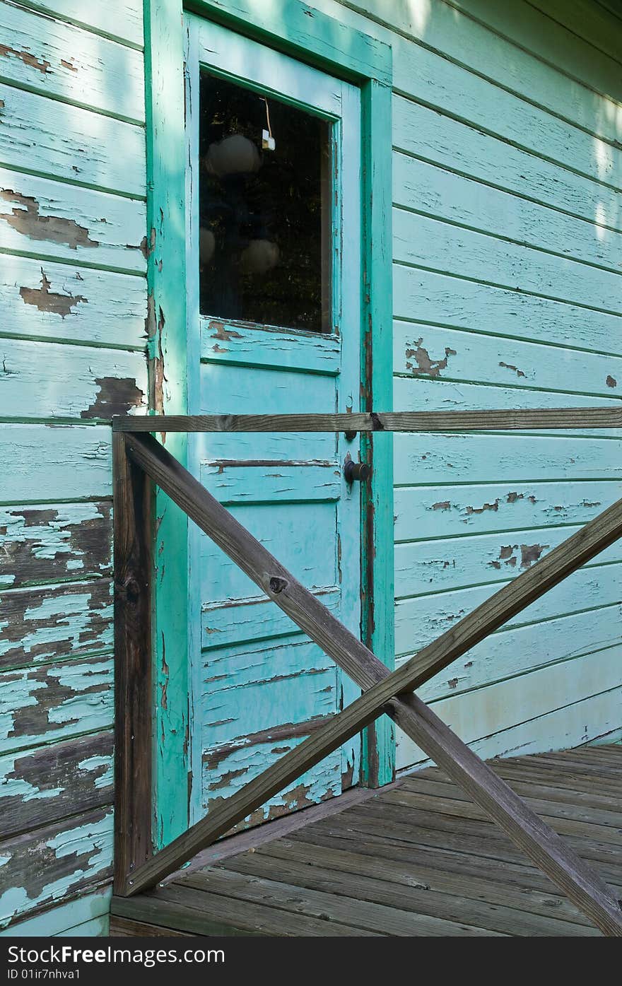
{"type": "Polygon", "coordinates": [[[153,853],[152,482],[112,436],[114,522],[114,892],[153,853]]]}

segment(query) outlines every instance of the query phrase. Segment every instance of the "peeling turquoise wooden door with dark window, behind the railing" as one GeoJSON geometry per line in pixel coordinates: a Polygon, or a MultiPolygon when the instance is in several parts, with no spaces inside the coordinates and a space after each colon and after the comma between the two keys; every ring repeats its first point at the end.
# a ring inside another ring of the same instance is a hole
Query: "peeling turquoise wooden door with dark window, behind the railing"
{"type": "MultiPolygon", "coordinates": [[[[190,413],[357,410],[359,92],[187,20],[190,413]]],[[[193,436],[201,482],[360,631],[360,490],[350,435],[193,436]]],[[[228,797],[355,697],[333,663],[206,537],[189,544],[191,815],[228,797]]],[[[353,740],[253,822],[339,794],[353,740]]]]}

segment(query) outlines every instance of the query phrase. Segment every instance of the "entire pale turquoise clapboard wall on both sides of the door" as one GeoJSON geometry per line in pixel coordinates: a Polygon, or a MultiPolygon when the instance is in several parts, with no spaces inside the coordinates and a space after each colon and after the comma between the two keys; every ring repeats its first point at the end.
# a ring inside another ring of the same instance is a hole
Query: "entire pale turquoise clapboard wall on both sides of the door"
{"type": "MultiPolygon", "coordinates": [[[[393,47],[395,408],[619,400],[616,5],[312,6],[393,47]]],[[[0,934],[98,934],[105,421],[147,399],[142,3],[0,0],[0,39],[0,934]]],[[[398,663],[618,498],[621,461],[599,433],[397,438],[398,663]]],[[[621,585],[611,548],[423,694],[487,756],[620,739],[621,585]]]]}

